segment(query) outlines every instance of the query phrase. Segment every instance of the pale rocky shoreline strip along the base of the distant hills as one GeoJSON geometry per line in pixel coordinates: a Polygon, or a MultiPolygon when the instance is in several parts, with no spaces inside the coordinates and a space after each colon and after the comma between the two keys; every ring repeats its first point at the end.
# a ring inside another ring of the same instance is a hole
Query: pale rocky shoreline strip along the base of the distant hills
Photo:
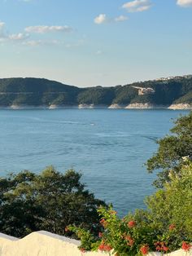
{"type": "Polygon", "coordinates": [[[0,106],[0,109],[182,109],[192,110],[192,104],[171,104],[171,105],[155,105],[155,104],[111,104],[107,105],[94,105],[94,104],[79,104],[79,105],[63,105],[63,104],[51,104],[51,105],[28,105],[28,104],[12,104],[10,106],[0,106]]]}

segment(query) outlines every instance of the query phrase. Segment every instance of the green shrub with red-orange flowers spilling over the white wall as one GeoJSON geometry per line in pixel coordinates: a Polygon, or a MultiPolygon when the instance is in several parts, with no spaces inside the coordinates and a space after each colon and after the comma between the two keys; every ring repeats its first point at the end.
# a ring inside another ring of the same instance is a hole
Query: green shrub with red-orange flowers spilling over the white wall
{"type": "Polygon", "coordinates": [[[170,223],[163,232],[159,229],[159,223],[150,221],[144,210],[137,210],[123,219],[111,206],[108,209],[101,207],[98,213],[101,216],[101,231],[97,237],[80,227],[68,227],[81,239],[81,252],[100,250],[116,256],[142,256],[150,251],[164,255],[180,248],[188,252],[191,248],[186,241],[174,244],[178,232],[176,224],[170,223]]]}

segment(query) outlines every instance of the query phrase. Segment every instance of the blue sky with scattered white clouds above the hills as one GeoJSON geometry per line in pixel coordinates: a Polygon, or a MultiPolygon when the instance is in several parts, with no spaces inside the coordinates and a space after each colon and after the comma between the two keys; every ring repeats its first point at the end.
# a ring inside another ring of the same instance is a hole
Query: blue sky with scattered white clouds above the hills
{"type": "Polygon", "coordinates": [[[192,0],[0,0],[0,77],[116,86],[192,73],[192,0]]]}

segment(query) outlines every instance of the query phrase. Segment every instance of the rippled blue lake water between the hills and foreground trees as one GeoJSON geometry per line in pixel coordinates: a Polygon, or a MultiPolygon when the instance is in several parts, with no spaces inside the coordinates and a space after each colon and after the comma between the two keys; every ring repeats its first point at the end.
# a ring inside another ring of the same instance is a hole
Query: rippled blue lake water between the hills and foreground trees
{"type": "Polygon", "coordinates": [[[143,208],[155,174],[143,164],[168,134],[172,118],[187,111],[125,109],[0,110],[0,171],[53,165],[74,168],[99,199],[120,216],[143,208]]]}

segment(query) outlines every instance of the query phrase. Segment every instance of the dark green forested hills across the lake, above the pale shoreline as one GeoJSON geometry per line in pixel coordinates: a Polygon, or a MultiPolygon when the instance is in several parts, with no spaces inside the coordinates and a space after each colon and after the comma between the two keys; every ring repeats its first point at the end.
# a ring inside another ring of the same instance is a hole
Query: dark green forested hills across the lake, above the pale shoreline
{"type": "Polygon", "coordinates": [[[168,77],[125,86],[78,88],[41,78],[0,79],[0,105],[192,104],[192,76],[168,77]],[[139,95],[139,88],[153,93],[139,95]]]}

